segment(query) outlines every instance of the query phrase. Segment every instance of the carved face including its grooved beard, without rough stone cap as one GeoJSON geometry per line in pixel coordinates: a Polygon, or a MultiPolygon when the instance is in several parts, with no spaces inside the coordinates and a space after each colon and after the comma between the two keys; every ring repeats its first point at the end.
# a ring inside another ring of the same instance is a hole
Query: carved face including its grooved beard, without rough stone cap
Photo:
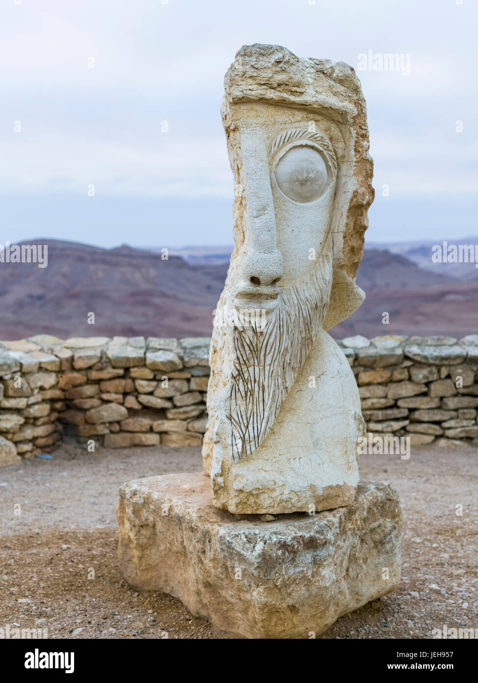
{"type": "Polygon", "coordinates": [[[239,317],[244,309],[263,312],[260,326],[233,329],[226,416],[230,456],[239,460],[263,443],[323,326],[338,161],[327,135],[301,112],[239,104],[232,117],[243,244],[226,290],[239,317]]]}

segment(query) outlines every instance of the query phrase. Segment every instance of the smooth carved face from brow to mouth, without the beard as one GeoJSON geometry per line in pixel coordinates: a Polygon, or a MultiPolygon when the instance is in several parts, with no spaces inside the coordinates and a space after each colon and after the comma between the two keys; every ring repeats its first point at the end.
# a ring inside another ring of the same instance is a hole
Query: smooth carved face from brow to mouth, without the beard
{"type": "Polygon", "coordinates": [[[233,110],[244,231],[235,304],[270,309],[281,290],[308,281],[320,261],[331,230],[337,159],[307,113],[265,104],[233,110]]]}

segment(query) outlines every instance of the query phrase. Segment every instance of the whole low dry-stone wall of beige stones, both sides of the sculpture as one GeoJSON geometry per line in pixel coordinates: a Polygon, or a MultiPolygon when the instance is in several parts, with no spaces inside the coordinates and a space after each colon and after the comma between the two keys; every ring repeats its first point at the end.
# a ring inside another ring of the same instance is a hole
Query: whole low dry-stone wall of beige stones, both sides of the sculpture
{"type": "MultiPolygon", "coordinates": [[[[0,342],[0,464],[57,441],[200,445],[209,339],[37,335],[0,342]]],[[[369,432],[478,444],[478,335],[349,337],[369,432]]],[[[316,380],[320,390],[320,378],[316,380]]]]}

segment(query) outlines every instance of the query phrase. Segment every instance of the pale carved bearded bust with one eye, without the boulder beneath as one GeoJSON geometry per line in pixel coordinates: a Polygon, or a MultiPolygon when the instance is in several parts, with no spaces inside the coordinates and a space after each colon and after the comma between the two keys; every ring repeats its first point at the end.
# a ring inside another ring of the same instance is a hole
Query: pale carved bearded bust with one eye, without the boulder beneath
{"type": "Polygon", "coordinates": [[[235,249],[211,344],[203,458],[213,505],[348,505],[364,426],[353,373],[326,331],[364,298],[355,271],[374,193],[360,83],[342,62],[252,45],[225,87],[235,249]]]}

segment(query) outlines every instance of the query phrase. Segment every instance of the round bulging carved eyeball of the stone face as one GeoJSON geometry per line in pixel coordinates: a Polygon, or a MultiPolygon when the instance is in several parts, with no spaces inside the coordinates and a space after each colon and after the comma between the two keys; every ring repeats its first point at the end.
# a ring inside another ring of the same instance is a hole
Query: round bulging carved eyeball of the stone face
{"type": "Polygon", "coordinates": [[[274,176],[284,195],[300,204],[318,199],[329,182],[322,154],[308,145],[288,150],[276,165],[274,176]]]}

